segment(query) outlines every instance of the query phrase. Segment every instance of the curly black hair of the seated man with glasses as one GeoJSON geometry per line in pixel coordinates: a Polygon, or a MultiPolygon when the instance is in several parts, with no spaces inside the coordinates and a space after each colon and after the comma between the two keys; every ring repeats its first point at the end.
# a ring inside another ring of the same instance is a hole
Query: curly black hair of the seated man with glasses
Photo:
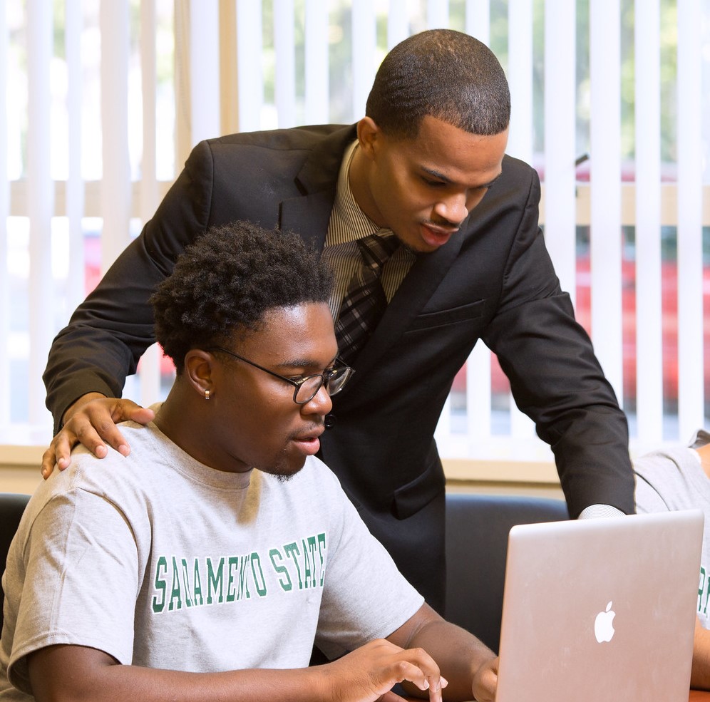
{"type": "Polygon", "coordinates": [[[182,372],[190,349],[255,331],[270,309],[327,302],[331,269],[292,232],[233,222],[185,249],[150,297],[155,337],[182,372]]]}

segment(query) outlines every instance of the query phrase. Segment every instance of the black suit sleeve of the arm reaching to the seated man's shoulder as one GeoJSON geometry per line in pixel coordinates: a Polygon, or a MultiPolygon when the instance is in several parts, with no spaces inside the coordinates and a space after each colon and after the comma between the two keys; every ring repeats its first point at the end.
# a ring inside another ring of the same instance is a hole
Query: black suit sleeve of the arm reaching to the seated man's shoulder
{"type": "Polygon", "coordinates": [[[82,395],[120,397],[125,377],[155,342],[148,300],[180,252],[207,229],[212,182],[212,152],[202,142],[153,219],[54,339],[43,380],[55,433],[66,408],[82,395]]]}

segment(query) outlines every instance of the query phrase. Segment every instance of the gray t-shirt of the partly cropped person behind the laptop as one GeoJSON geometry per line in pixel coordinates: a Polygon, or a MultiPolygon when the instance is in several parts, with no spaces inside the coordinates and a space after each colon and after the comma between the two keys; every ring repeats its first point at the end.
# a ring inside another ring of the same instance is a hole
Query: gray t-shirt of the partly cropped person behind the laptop
{"type": "MultiPolygon", "coordinates": [[[[699,432],[694,446],[707,443],[710,435],[699,432]]],[[[710,479],[693,448],[679,446],[654,451],[634,461],[636,472],[637,512],[673,512],[703,510],[706,533],[700,561],[698,584],[698,617],[704,629],[710,629],[710,479]]]]}

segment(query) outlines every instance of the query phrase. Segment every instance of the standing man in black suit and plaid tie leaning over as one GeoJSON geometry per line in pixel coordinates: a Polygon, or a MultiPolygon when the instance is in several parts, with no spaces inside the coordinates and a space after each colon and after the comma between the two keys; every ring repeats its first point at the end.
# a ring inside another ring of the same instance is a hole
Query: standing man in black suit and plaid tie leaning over
{"type": "Polygon", "coordinates": [[[504,154],[509,118],[493,53],[433,30],[393,48],[356,125],[198,144],[54,341],[44,377],[58,433],[44,475],[55,462],[66,468],[78,440],[99,456],[104,442],[128,453],[113,422],[152,415],[114,398],[155,340],[150,293],[208,227],[246,219],[301,234],[335,269],[331,312],[356,374],[334,401],[321,458],[435,608],[444,476],[433,433],[478,339],[552,446],[570,515],[633,512],[626,419],[545,249],[537,174],[504,154]],[[373,234],[399,245],[369,254],[373,234]],[[377,293],[366,268],[381,275],[377,293]],[[366,334],[357,329],[363,300],[382,313],[366,334]]]}

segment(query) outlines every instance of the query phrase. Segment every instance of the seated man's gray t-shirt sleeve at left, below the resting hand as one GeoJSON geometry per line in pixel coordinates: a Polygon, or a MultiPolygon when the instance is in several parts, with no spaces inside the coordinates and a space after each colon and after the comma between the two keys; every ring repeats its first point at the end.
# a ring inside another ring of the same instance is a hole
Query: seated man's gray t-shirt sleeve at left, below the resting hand
{"type": "Polygon", "coordinates": [[[90,646],[130,664],[138,553],[117,507],[86,490],[53,497],[24,550],[11,683],[30,692],[27,656],[55,644],[90,646]]]}

